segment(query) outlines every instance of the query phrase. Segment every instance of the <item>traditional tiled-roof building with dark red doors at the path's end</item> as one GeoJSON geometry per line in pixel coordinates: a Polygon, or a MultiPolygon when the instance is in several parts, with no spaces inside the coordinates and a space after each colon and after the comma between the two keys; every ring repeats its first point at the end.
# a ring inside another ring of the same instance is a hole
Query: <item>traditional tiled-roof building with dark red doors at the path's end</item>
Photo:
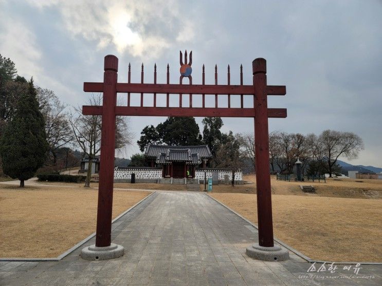
{"type": "Polygon", "coordinates": [[[212,158],[207,145],[167,146],[149,144],[144,152],[151,167],[162,169],[162,178],[195,178],[196,168],[205,168],[212,158]],[[189,176],[187,176],[187,170],[189,176]]]}

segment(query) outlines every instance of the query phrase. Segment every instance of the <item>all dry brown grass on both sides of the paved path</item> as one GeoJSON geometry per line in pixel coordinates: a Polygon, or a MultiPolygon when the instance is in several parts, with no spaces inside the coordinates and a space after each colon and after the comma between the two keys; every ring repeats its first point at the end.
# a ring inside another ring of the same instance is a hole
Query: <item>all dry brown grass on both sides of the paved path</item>
{"type": "MultiPolygon", "coordinates": [[[[250,183],[213,186],[212,196],[257,223],[256,178],[244,180],[250,183]]],[[[26,249],[28,257],[56,257],[95,231],[97,183],[31,184],[39,185],[0,185],[0,257],[25,256],[26,249]]],[[[185,185],[114,186],[113,217],[150,194],[139,189],[186,191],[185,185]]],[[[275,236],[285,243],[318,260],[382,261],[382,180],[301,183],[272,177],[271,192],[275,236]],[[300,184],[314,185],[316,193],[303,193],[300,184]]]]}

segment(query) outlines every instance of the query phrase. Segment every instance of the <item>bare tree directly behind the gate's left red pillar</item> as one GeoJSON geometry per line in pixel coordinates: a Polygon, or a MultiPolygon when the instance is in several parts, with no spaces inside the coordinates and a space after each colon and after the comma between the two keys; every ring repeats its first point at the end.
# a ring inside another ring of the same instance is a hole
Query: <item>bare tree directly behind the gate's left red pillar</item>
{"type": "MultiPolygon", "coordinates": [[[[92,94],[88,104],[102,105],[102,94],[92,94]]],[[[89,187],[92,176],[92,162],[99,155],[101,149],[101,116],[84,116],[81,107],[73,107],[69,122],[83,155],[89,160],[85,179],[85,187],[89,187]]],[[[130,132],[128,119],[117,116],[115,148],[118,149],[131,144],[132,139],[133,135],[130,132]]]]}

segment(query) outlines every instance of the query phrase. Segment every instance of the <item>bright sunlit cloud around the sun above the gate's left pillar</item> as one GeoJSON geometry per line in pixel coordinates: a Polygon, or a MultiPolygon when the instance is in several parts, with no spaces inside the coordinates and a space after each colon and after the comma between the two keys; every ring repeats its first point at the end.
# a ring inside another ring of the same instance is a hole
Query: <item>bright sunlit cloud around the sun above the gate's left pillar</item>
{"type": "Polygon", "coordinates": [[[102,50],[109,46],[133,56],[158,56],[171,43],[191,41],[192,25],[179,11],[177,1],[65,1],[28,0],[44,9],[54,6],[72,36],[95,41],[102,50]]]}

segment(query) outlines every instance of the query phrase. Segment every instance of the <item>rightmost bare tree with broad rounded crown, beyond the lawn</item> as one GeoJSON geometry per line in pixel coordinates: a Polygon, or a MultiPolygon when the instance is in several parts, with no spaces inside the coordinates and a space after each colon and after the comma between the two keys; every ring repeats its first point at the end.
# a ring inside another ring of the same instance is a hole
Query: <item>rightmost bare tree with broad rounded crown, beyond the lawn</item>
{"type": "Polygon", "coordinates": [[[362,139],[353,132],[324,130],[319,136],[319,141],[322,144],[329,177],[332,177],[333,166],[340,156],[349,160],[356,159],[359,152],[365,148],[362,139]]]}

